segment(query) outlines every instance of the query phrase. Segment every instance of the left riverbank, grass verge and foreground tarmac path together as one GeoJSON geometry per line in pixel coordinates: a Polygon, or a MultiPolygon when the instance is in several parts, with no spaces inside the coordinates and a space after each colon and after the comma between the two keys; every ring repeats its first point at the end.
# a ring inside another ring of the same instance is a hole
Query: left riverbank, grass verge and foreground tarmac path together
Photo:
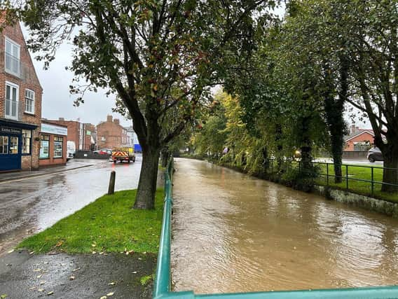
{"type": "Polygon", "coordinates": [[[0,296],[151,298],[163,190],[151,211],[131,208],[135,192],[99,197],[23,240],[0,260],[0,296]]]}

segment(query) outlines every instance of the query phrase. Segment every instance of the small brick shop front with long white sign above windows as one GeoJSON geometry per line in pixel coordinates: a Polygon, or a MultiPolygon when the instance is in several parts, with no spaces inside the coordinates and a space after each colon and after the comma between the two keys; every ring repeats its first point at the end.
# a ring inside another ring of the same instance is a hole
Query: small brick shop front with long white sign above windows
{"type": "Polygon", "coordinates": [[[41,123],[40,167],[67,163],[67,126],[41,123]]]}

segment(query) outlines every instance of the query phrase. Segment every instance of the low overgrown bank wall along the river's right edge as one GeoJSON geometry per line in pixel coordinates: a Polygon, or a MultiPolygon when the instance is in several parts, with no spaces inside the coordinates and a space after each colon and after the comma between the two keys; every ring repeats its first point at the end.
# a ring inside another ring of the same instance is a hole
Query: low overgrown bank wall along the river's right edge
{"type": "Polygon", "coordinates": [[[191,158],[195,160],[206,160],[215,165],[221,167],[226,167],[228,169],[233,169],[237,172],[252,175],[259,179],[264,179],[267,181],[272,181],[273,183],[280,183],[283,186],[289,188],[294,188],[296,190],[302,190],[308,193],[314,193],[325,197],[327,200],[335,200],[337,202],[342,202],[344,204],[350,204],[355,207],[361,207],[368,211],[376,211],[387,216],[398,218],[398,198],[397,195],[376,193],[373,197],[366,195],[364,193],[355,192],[355,190],[344,190],[340,186],[325,186],[322,184],[321,180],[315,180],[316,183],[313,186],[308,184],[308,181],[296,181],[294,177],[281,176],[275,173],[248,173],[243,167],[238,167],[236,165],[230,165],[226,162],[219,162],[217,159],[205,159],[198,156],[184,156],[181,158],[191,158]]]}

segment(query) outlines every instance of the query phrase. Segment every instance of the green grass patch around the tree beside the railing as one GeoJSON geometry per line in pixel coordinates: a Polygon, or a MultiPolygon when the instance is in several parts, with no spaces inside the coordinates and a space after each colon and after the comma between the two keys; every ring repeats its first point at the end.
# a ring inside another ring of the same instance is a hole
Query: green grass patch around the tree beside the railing
{"type": "Polygon", "coordinates": [[[163,190],[156,192],[156,209],[133,210],[136,190],[104,195],[52,227],[23,240],[18,247],[35,253],[158,251],[163,218],[163,190]]]}

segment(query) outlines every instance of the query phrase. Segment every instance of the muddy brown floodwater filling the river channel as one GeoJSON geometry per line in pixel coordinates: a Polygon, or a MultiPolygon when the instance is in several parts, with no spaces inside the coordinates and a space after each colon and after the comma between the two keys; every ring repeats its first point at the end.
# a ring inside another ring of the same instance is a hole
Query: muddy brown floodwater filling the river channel
{"type": "Polygon", "coordinates": [[[398,220],[176,159],[174,291],[229,293],[398,284],[398,220]]]}

